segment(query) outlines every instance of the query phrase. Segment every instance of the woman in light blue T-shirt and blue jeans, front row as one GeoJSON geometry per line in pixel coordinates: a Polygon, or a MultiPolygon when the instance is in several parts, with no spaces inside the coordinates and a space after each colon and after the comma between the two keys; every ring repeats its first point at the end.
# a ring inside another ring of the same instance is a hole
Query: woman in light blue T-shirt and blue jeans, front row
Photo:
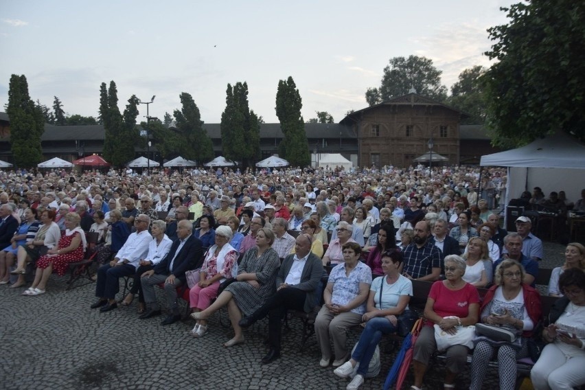
{"type": "Polygon", "coordinates": [[[395,333],[398,330],[398,316],[409,309],[409,301],[413,295],[413,284],[410,279],[400,275],[402,253],[390,249],[382,253],[382,272],[384,276],[376,277],[371,282],[367,299],[367,312],[362,320],[366,323],[360,335],[358,345],[352,358],[337,367],[333,373],[347,378],[358,363],[357,375],[349,382],[347,389],[358,389],[363,384],[369,362],[374,356],[376,346],[382,335],[395,333]]]}

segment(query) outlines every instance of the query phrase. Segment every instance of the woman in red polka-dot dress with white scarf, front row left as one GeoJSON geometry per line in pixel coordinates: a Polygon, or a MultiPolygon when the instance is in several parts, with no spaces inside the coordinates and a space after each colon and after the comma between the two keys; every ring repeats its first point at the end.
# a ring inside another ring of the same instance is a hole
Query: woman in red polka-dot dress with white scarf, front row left
{"type": "Polygon", "coordinates": [[[86,247],[85,233],[79,226],[81,218],[77,213],[69,213],[65,217],[65,235],[61,236],[58,246],[47,251],[36,262],[36,275],[32,286],[23,295],[40,295],[45,293],[51,273],[65,275],[69,263],[83,259],[86,247]]]}

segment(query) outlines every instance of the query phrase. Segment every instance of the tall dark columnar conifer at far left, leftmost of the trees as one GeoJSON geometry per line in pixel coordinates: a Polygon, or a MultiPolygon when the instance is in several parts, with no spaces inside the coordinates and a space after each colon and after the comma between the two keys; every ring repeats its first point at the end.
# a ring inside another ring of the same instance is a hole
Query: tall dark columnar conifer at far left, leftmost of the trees
{"type": "Polygon", "coordinates": [[[45,131],[43,112],[28,93],[24,75],[13,74],[8,89],[6,113],[10,117],[10,151],[20,167],[34,167],[43,159],[41,135],[45,131]]]}

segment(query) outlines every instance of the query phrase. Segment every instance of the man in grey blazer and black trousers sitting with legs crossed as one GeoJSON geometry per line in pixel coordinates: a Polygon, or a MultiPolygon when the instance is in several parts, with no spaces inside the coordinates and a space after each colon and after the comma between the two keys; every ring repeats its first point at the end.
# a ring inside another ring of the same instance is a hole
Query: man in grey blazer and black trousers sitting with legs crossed
{"type": "Polygon", "coordinates": [[[319,303],[319,288],[323,276],[323,263],[311,252],[312,237],[299,234],[295,242],[295,254],[285,257],[276,277],[277,292],[251,316],[240,320],[242,328],[262,319],[268,314],[268,341],[270,352],[262,363],[272,363],[280,357],[282,317],[286,310],[310,312],[319,303]]]}

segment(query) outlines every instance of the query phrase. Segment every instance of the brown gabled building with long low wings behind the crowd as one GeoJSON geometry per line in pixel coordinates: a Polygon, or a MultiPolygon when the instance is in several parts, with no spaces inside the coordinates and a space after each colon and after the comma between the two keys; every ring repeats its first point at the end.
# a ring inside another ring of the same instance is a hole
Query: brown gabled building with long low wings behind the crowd
{"type": "MultiPolygon", "coordinates": [[[[490,145],[490,137],[481,125],[461,125],[460,113],[454,108],[410,93],[376,106],[347,115],[339,124],[305,124],[310,152],[341,153],[354,165],[407,166],[428,152],[433,138],[433,152],[448,159],[448,164],[477,164],[482,154],[499,151],[490,145]]],[[[203,124],[211,138],[214,154],[222,154],[220,124],[203,124]]],[[[43,156],[73,161],[82,156],[101,154],[104,126],[52,126],[45,124],[41,137],[43,156]]],[[[284,138],[280,124],[261,124],[262,159],[278,153],[284,138]]],[[[136,157],[147,157],[146,148],[135,148],[136,157]]],[[[150,159],[163,163],[174,155],[161,156],[156,145],[150,159]]],[[[10,119],[0,113],[0,160],[14,162],[10,152],[10,119]]],[[[433,160],[434,161],[434,160],[433,160]]],[[[316,162],[316,161],[314,161],[316,162]]]]}

